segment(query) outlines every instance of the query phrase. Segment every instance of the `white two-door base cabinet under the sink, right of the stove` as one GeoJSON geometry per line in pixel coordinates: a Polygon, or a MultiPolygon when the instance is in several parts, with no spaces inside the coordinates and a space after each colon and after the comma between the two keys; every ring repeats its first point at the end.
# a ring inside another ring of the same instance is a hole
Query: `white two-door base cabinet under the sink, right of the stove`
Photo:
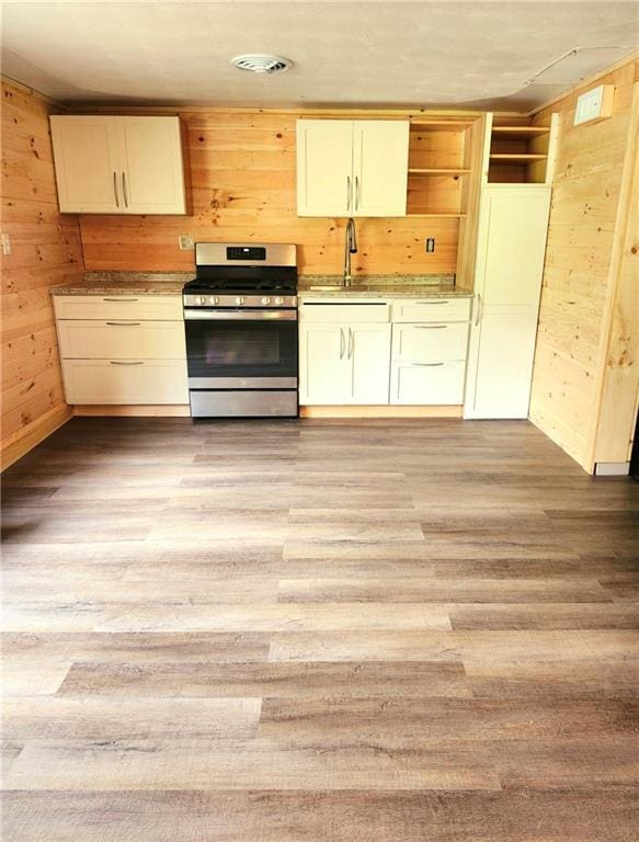
{"type": "Polygon", "coordinates": [[[386,303],[303,303],[300,403],[388,403],[389,312],[386,303]]]}

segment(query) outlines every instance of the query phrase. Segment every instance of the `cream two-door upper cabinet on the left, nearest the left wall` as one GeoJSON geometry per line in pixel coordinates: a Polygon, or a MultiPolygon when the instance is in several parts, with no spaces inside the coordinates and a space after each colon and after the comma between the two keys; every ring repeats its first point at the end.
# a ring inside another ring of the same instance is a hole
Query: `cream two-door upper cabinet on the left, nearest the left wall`
{"type": "Polygon", "coordinates": [[[50,117],[62,213],[185,214],[179,117],[50,117]]]}

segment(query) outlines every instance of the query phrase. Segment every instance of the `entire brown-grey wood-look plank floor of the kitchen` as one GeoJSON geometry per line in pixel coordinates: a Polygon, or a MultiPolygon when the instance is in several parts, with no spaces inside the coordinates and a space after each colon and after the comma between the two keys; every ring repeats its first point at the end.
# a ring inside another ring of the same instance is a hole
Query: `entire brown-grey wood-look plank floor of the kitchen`
{"type": "Polygon", "coordinates": [[[3,842],[639,839],[632,480],[526,422],[190,419],[3,480],[3,842]]]}

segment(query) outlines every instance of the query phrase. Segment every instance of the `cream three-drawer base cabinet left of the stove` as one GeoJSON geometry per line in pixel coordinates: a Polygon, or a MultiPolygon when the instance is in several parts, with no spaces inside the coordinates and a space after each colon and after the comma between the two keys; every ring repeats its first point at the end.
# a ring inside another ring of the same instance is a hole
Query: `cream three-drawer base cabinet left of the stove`
{"type": "Polygon", "coordinates": [[[54,306],[67,403],[189,403],[181,296],[69,295],[54,306]]]}

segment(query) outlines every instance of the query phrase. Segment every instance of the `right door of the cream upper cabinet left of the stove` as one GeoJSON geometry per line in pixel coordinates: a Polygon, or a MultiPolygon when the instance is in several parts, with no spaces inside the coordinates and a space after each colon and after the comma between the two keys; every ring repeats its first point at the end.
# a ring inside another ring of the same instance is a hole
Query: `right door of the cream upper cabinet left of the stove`
{"type": "Polygon", "coordinates": [[[116,117],[124,162],[124,213],[185,214],[179,117],[116,117]]]}

